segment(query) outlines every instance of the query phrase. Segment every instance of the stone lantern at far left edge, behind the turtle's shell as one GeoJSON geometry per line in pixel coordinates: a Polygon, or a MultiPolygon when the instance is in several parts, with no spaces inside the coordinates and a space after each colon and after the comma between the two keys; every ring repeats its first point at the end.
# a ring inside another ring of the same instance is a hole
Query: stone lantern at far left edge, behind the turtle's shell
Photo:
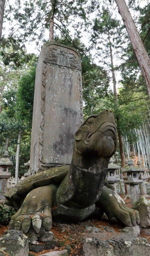
{"type": "Polygon", "coordinates": [[[8,151],[5,151],[3,157],[0,159],[0,201],[4,200],[4,194],[7,189],[7,179],[11,173],[8,172],[8,167],[12,166],[12,162],[9,160],[8,151]]]}

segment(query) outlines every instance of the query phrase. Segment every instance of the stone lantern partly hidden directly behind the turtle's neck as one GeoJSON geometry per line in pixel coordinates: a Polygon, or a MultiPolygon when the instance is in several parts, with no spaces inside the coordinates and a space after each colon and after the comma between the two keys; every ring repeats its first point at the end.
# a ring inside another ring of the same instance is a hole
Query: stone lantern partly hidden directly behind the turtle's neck
{"type": "Polygon", "coordinates": [[[116,182],[118,182],[120,179],[118,174],[118,169],[120,169],[120,166],[114,164],[112,158],[110,158],[108,168],[107,168],[106,180],[108,181],[109,184],[111,184],[114,187],[115,192],[116,192],[116,182]]]}

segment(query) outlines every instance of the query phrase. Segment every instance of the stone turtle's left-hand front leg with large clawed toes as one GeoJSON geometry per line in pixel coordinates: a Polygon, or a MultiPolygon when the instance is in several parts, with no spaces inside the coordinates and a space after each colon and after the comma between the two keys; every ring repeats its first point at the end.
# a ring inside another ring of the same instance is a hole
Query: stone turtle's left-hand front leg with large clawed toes
{"type": "Polygon", "coordinates": [[[32,226],[38,234],[41,225],[49,231],[52,225],[51,206],[55,201],[57,186],[50,184],[31,190],[19,210],[11,217],[10,229],[27,233],[32,226]]]}

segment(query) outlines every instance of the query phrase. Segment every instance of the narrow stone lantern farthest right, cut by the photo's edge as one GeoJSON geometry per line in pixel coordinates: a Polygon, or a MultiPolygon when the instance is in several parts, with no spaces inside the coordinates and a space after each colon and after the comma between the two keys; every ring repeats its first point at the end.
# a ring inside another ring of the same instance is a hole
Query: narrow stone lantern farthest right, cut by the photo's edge
{"type": "Polygon", "coordinates": [[[143,180],[143,182],[139,184],[140,196],[143,196],[146,198],[146,197],[149,197],[149,195],[146,193],[146,185],[145,185],[145,180],[148,179],[148,175],[146,173],[148,169],[141,165],[140,160],[137,161],[137,165],[143,168],[143,171],[141,171],[141,174],[139,176],[139,179],[143,180]]]}

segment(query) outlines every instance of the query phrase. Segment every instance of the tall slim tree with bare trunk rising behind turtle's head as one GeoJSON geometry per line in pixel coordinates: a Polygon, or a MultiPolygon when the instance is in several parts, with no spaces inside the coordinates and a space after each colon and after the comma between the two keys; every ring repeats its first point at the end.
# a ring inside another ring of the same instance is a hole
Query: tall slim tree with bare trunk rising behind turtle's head
{"type": "MultiPolygon", "coordinates": [[[[115,80],[115,68],[113,64],[113,53],[112,49],[115,47],[116,42],[118,42],[118,30],[117,27],[119,22],[111,17],[109,10],[105,7],[102,7],[102,13],[99,15],[100,17],[94,19],[93,25],[93,34],[92,40],[97,43],[103,44],[105,47],[98,47],[97,50],[103,53],[103,62],[107,65],[107,68],[111,72],[112,82],[113,82],[113,93],[115,97],[115,118],[117,120],[117,131],[118,131],[118,139],[119,139],[119,148],[120,148],[120,156],[122,166],[125,164],[125,155],[123,148],[122,135],[119,125],[119,115],[117,112],[117,94],[116,94],[116,80],[115,80]],[[106,59],[108,58],[108,62],[106,59]]],[[[118,45],[117,45],[118,48],[118,45]]]]}

